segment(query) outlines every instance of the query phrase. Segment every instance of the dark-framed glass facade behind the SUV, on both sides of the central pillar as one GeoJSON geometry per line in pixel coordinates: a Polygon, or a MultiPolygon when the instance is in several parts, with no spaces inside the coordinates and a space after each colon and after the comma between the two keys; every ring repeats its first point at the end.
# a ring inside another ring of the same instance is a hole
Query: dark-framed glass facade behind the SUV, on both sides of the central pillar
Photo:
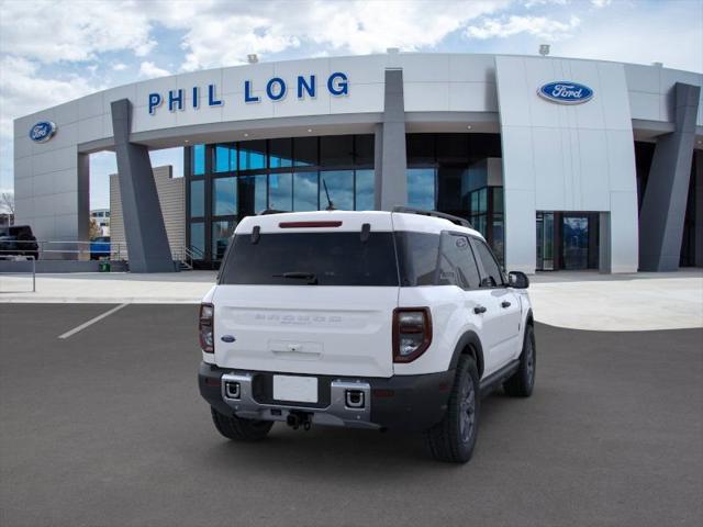
{"type": "MultiPolygon", "coordinates": [[[[187,148],[189,245],[216,265],[237,222],[266,209],[372,210],[373,148],[372,134],[187,148]]],[[[406,155],[408,205],[468,218],[503,261],[503,189],[486,161],[501,157],[500,136],[408,134],[406,155]]]]}

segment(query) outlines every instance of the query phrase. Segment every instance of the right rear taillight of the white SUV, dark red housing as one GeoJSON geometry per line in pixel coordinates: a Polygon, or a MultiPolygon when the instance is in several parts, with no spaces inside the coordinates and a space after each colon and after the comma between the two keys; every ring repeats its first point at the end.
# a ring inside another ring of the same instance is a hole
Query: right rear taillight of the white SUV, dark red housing
{"type": "Polygon", "coordinates": [[[432,343],[428,307],[399,307],[393,311],[393,362],[411,362],[432,343]]]}

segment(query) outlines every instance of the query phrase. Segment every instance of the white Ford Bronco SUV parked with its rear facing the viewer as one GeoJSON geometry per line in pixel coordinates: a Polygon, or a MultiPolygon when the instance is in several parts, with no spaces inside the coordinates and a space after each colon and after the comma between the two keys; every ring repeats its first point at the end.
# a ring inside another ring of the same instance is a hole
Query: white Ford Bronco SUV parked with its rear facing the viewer
{"type": "Polygon", "coordinates": [[[532,393],[527,287],[458,217],[250,216],[201,305],[200,392],[230,439],[277,421],[422,430],[436,459],[466,462],[481,395],[532,393]]]}

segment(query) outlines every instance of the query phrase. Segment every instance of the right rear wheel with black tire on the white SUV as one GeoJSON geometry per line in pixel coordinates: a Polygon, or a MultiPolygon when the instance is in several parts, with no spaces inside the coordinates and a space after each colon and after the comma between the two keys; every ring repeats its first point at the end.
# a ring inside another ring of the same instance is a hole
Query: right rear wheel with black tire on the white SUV
{"type": "Polygon", "coordinates": [[[447,413],[425,431],[425,445],[433,458],[448,463],[466,463],[471,459],[478,434],[479,406],[476,361],[462,355],[449,394],[447,413]]]}

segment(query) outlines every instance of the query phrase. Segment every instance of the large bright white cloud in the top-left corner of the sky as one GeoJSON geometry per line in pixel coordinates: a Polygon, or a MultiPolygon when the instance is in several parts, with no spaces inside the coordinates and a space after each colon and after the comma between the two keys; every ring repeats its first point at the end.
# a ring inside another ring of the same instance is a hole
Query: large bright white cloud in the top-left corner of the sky
{"type": "Polygon", "coordinates": [[[89,60],[120,49],[144,56],[156,42],[149,37],[150,21],[140,8],[132,0],[3,2],[0,51],[46,64],[89,60]]]}

